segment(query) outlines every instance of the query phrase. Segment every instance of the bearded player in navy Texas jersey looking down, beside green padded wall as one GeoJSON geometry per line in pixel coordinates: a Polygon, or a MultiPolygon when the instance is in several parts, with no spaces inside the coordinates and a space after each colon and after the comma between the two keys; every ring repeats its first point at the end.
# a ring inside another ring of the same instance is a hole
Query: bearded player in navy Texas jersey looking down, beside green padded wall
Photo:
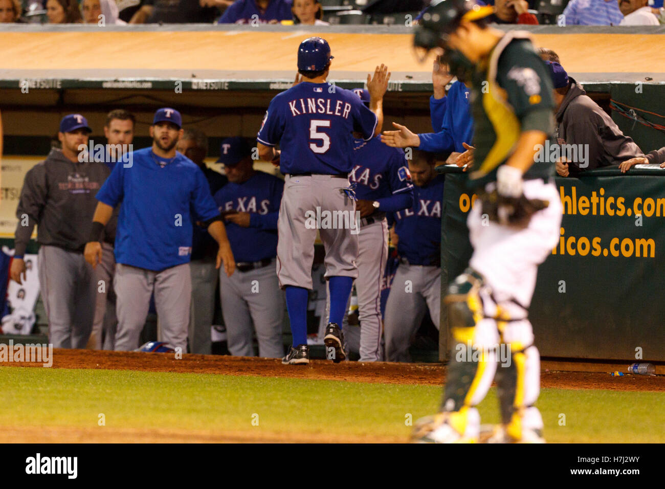
{"type": "Polygon", "coordinates": [[[414,151],[409,171],[414,204],[393,214],[400,265],[386,301],[386,360],[411,361],[409,346],[425,313],[439,327],[441,308],[441,207],[444,176],[437,176],[434,155],[414,151]]]}

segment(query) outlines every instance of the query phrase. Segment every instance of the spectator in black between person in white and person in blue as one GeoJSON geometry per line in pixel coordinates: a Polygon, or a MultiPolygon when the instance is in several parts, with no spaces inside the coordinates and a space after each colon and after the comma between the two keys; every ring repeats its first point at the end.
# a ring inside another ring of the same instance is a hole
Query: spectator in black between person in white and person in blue
{"type": "Polygon", "coordinates": [[[216,7],[201,0],[143,0],[130,24],[209,24],[219,15],[216,7]]]}

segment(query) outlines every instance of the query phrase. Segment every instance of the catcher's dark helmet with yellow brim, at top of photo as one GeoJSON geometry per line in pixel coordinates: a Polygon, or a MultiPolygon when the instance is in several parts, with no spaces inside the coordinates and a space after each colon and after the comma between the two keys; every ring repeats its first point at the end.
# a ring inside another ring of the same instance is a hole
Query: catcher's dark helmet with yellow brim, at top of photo
{"type": "Polygon", "coordinates": [[[442,35],[455,31],[462,19],[475,21],[491,15],[494,7],[480,6],[474,0],[432,0],[422,13],[414,45],[425,49],[440,47],[442,35]]]}

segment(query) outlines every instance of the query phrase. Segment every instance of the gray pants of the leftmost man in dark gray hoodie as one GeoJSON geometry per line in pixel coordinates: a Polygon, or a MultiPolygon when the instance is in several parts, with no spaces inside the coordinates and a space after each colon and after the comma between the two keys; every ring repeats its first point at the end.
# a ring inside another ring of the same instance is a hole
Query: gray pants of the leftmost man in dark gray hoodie
{"type": "Polygon", "coordinates": [[[39,248],[39,285],[54,348],[85,348],[92,331],[96,282],[83,253],[39,248]]]}

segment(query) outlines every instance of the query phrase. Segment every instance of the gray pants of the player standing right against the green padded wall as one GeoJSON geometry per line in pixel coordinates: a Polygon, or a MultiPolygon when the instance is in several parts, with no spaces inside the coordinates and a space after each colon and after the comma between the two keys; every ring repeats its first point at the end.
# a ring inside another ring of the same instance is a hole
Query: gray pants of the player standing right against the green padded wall
{"type": "Polygon", "coordinates": [[[427,309],[439,328],[441,268],[400,263],[386,301],[386,361],[409,362],[409,347],[427,309]]]}

